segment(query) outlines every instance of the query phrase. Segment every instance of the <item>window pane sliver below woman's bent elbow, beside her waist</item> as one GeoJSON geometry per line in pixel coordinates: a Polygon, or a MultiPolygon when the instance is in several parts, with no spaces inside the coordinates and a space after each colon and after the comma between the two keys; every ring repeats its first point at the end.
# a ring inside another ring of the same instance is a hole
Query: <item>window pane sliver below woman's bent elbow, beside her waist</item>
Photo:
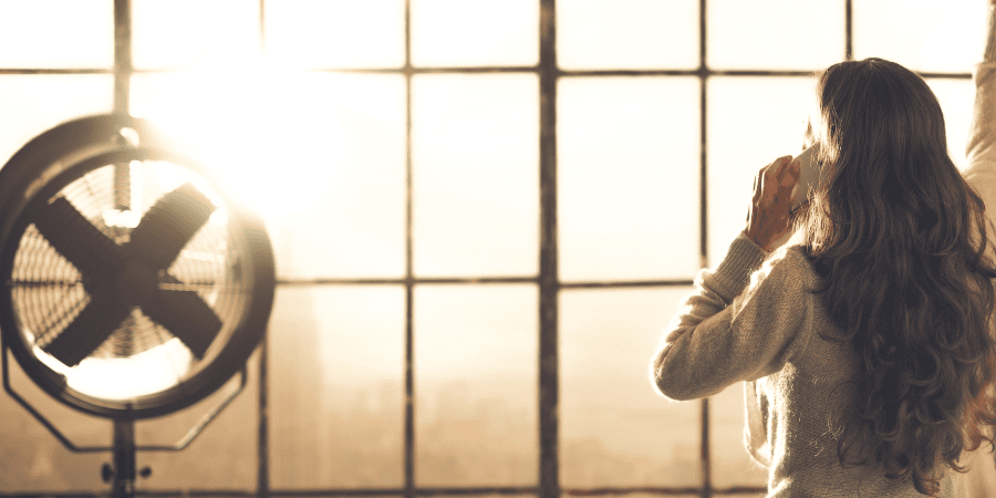
{"type": "Polygon", "coordinates": [[[768,486],[768,469],[744,446],[744,383],[709,397],[709,456],[713,486],[768,486]]]}

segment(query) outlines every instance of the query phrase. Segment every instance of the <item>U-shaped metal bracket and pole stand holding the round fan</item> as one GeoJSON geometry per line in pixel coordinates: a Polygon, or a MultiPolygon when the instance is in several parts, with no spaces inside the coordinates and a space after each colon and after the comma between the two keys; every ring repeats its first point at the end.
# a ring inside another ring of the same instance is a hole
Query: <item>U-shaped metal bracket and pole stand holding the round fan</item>
{"type": "MultiPolygon", "coordinates": [[[[2,341],[0,341],[2,342],[2,341]]],[[[149,467],[143,467],[142,470],[136,471],[136,454],[137,452],[180,452],[186,449],[194,439],[207,428],[208,424],[211,423],[215,418],[217,418],[218,414],[228,406],[232,400],[238,396],[242,390],[246,387],[246,380],[248,377],[247,366],[242,366],[242,370],[239,371],[239,387],[232,391],[228,396],[224,400],[220,400],[218,404],[211,407],[210,411],[204,414],[200,421],[191,427],[183,439],[175,443],[174,445],[146,445],[138,446],[135,444],[135,421],[133,418],[126,417],[115,417],[113,418],[114,428],[113,428],[113,438],[112,446],[79,446],[69,437],[65,436],[51,421],[49,421],[44,415],[41,414],[28,400],[24,400],[20,394],[18,394],[13,386],[10,383],[10,366],[8,362],[8,344],[7,342],[2,342],[2,346],[0,346],[0,354],[2,354],[2,370],[3,370],[3,390],[7,391],[7,394],[10,397],[14,398],[28,413],[31,414],[39,423],[41,423],[49,433],[55,436],[63,446],[66,447],[70,452],[73,453],[102,453],[102,452],[112,452],[113,454],[113,464],[104,464],[101,467],[101,477],[104,483],[112,483],[111,496],[113,498],[133,498],[135,496],[135,480],[136,477],[147,478],[152,475],[152,469],[149,467]]]]}

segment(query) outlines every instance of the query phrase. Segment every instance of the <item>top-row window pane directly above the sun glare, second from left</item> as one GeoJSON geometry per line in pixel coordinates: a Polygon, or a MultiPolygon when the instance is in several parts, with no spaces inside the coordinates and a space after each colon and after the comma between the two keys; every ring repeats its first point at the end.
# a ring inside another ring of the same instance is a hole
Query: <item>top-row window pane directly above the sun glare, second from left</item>
{"type": "Polygon", "coordinates": [[[259,2],[133,0],[135,68],[209,68],[259,53],[259,2]]]}

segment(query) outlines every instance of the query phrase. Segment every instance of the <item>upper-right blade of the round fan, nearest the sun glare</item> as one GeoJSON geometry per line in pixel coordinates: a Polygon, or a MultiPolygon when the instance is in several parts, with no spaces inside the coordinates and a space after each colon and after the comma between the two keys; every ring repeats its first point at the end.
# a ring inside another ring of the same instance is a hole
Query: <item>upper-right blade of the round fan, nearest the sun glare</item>
{"type": "Polygon", "coordinates": [[[148,208],[132,230],[127,247],[132,255],[165,270],[215,209],[210,199],[187,181],[148,208]]]}

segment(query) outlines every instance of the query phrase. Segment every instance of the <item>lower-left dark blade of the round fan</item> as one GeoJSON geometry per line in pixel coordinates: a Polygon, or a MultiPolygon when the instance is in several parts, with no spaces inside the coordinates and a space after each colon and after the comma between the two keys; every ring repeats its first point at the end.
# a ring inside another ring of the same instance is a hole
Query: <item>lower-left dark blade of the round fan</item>
{"type": "Polygon", "coordinates": [[[111,299],[95,298],[62,333],[42,349],[66,366],[75,366],[96,351],[128,313],[126,307],[111,299]]]}

